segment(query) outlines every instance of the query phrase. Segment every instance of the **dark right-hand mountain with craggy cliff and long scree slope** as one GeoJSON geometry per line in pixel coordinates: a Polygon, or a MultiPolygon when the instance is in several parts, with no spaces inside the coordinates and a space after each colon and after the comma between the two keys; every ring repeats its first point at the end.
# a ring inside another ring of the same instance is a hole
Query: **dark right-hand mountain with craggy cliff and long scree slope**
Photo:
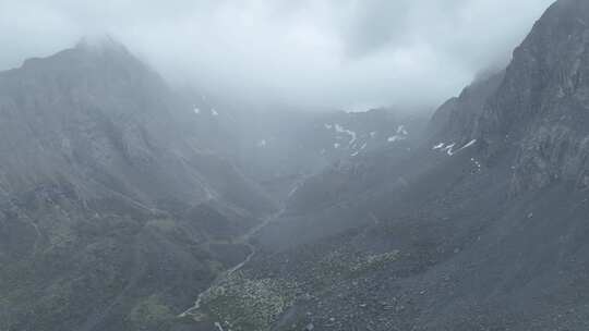
{"type": "Polygon", "coordinates": [[[588,20],[557,1],[411,152],[305,181],[202,312],[231,330],[586,330],[588,20]]]}

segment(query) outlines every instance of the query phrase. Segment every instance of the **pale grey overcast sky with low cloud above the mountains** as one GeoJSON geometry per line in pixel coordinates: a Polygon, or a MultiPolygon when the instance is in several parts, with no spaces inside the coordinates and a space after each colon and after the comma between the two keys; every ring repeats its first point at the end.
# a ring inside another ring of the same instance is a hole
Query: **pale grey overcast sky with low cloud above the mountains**
{"type": "Polygon", "coordinates": [[[503,66],[552,0],[0,0],[0,69],[109,34],[173,83],[302,106],[430,106],[503,66]]]}

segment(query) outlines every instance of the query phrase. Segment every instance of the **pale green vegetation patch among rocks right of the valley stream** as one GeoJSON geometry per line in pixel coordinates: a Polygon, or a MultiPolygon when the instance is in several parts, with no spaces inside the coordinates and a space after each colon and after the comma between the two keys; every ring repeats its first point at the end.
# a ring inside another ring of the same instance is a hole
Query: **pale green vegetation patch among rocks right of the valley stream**
{"type": "MultiPolygon", "coordinates": [[[[248,271],[239,271],[211,289],[203,297],[200,316],[220,322],[226,330],[271,330],[297,301],[334,291],[338,283],[360,279],[396,261],[399,254],[399,250],[374,255],[335,250],[299,266],[299,270],[284,278],[255,278],[248,271]]],[[[301,319],[297,324],[304,327],[304,322],[301,319]]]]}

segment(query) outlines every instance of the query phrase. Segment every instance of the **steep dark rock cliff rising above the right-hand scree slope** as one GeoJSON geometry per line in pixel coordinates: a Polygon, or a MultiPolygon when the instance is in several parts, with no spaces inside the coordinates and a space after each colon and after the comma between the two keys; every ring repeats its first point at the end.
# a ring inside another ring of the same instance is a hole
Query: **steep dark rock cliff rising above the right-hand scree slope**
{"type": "Polygon", "coordinates": [[[589,3],[554,3],[514,51],[472,137],[491,157],[516,148],[514,189],[557,180],[586,187],[589,156],[589,3]]]}

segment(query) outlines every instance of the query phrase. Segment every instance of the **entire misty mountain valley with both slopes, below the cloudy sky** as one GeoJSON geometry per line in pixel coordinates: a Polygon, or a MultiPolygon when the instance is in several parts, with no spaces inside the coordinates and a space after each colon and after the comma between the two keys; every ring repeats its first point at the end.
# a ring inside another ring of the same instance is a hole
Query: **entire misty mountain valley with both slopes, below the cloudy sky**
{"type": "Polygon", "coordinates": [[[429,110],[176,89],[112,39],[0,72],[0,330],[587,330],[586,22],[429,110]]]}

